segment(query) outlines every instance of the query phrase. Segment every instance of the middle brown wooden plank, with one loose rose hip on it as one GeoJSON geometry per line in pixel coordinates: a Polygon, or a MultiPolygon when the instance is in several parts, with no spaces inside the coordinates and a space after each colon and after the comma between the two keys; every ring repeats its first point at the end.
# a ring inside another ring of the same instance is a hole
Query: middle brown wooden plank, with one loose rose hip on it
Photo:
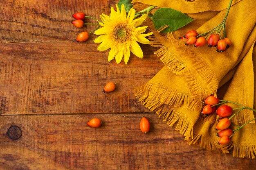
{"type": "Polygon", "coordinates": [[[89,43],[0,44],[0,114],[117,113],[148,111],[134,96],[163,66],[143,46],[145,57],[128,65],[108,62],[108,51],[89,43]],[[115,92],[103,93],[109,81],[115,92]]]}

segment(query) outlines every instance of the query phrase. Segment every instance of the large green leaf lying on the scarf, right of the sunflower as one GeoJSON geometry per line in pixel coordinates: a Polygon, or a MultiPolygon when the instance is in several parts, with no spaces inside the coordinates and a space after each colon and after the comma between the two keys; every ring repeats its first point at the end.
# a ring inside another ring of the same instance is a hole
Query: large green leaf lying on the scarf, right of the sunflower
{"type": "Polygon", "coordinates": [[[173,32],[193,21],[184,13],[171,8],[159,8],[151,18],[156,29],[168,25],[162,33],[173,32]]]}

